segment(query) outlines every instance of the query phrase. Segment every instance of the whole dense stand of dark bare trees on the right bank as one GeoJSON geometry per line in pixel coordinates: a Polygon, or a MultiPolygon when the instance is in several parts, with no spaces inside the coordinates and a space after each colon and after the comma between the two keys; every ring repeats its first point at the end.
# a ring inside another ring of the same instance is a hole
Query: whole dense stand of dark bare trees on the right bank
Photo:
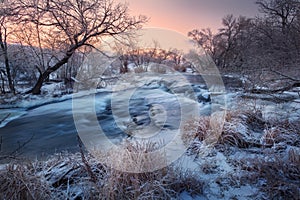
{"type": "Polygon", "coordinates": [[[258,0],[256,4],[260,15],[255,18],[228,15],[217,33],[195,29],[188,36],[222,72],[242,73],[254,85],[278,80],[285,80],[283,88],[299,85],[300,1],[258,0]]]}

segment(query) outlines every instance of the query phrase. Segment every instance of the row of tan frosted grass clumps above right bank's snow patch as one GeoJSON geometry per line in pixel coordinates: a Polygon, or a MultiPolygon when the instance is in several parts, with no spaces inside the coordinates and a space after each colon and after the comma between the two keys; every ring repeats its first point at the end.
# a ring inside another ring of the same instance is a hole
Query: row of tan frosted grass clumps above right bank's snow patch
{"type": "Polygon", "coordinates": [[[185,124],[182,140],[191,153],[199,153],[207,144],[241,149],[280,145],[300,147],[300,123],[267,121],[259,110],[228,111],[223,126],[222,118],[213,117],[201,116],[185,124]]]}

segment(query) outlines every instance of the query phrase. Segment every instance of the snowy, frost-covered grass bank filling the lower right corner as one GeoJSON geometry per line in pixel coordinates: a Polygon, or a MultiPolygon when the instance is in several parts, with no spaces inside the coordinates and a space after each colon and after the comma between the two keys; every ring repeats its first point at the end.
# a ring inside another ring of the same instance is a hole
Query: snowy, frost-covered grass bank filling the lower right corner
{"type": "Polygon", "coordinates": [[[182,135],[207,198],[299,199],[299,121],[266,119],[260,110],[228,111],[214,148],[202,154],[214,131],[210,121],[191,119],[182,135]]]}

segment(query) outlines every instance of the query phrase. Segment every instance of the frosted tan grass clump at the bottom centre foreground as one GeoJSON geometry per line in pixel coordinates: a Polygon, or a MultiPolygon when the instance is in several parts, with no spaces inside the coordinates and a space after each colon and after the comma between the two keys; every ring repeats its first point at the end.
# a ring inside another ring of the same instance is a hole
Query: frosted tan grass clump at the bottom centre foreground
{"type": "Polygon", "coordinates": [[[202,182],[194,174],[185,174],[171,167],[145,173],[112,170],[99,198],[172,199],[183,191],[201,194],[202,187],[202,182]]]}

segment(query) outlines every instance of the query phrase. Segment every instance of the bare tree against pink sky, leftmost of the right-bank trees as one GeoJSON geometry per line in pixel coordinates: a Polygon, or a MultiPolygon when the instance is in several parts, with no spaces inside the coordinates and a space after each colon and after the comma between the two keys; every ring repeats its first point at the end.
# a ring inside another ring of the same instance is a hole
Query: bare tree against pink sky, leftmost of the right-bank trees
{"type": "Polygon", "coordinates": [[[188,36],[200,45],[212,57],[217,66],[223,68],[240,67],[242,47],[249,41],[252,20],[243,16],[239,18],[227,15],[222,19],[223,27],[213,34],[208,29],[195,29],[188,36]]]}

